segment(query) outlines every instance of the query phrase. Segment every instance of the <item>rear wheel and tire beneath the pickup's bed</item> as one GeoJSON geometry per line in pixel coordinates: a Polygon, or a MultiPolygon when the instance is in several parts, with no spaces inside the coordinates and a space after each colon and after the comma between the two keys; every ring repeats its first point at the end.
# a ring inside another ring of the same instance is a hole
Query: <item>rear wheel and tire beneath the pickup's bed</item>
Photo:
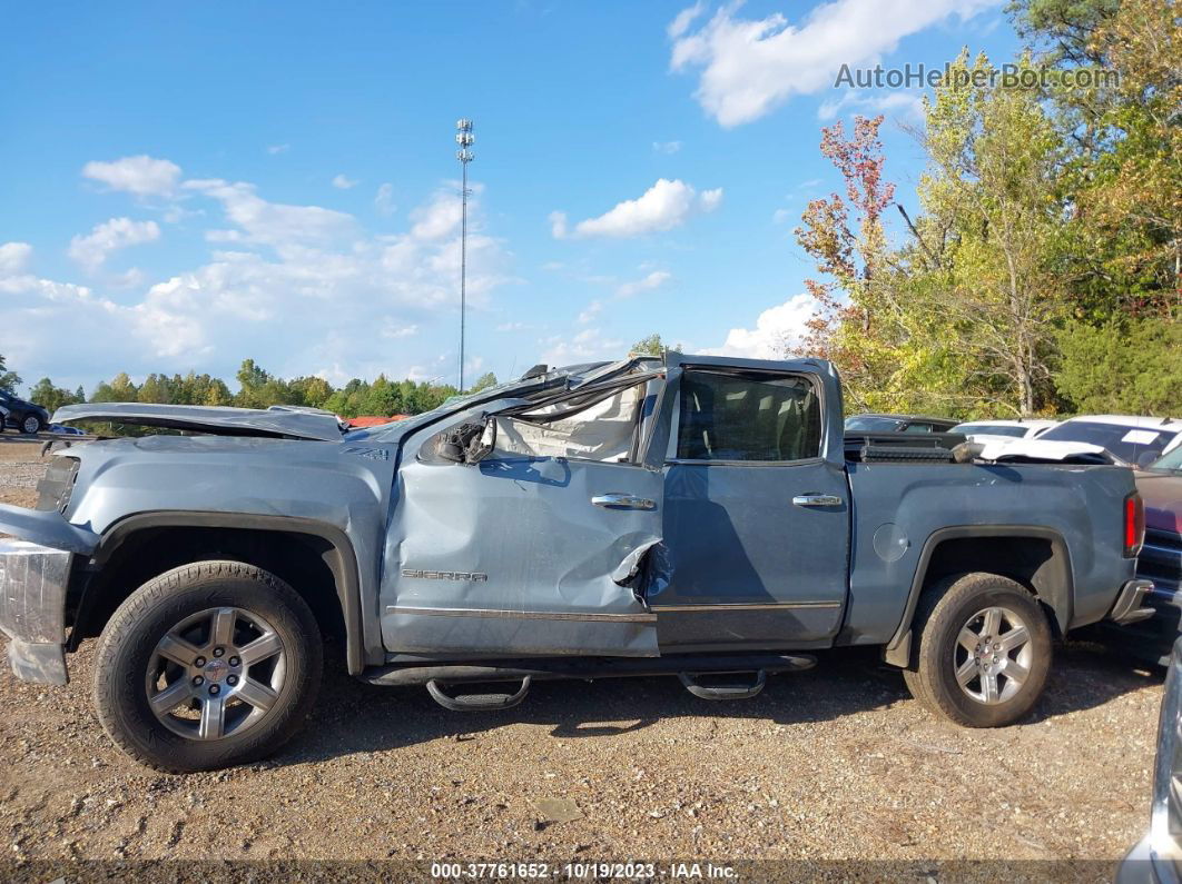
{"type": "Polygon", "coordinates": [[[911,629],[917,641],[903,680],[957,725],[1012,725],[1046,686],[1051,627],[1034,596],[1008,577],[975,572],[937,583],[920,598],[911,629]],[[972,634],[965,641],[962,630],[972,634]]]}

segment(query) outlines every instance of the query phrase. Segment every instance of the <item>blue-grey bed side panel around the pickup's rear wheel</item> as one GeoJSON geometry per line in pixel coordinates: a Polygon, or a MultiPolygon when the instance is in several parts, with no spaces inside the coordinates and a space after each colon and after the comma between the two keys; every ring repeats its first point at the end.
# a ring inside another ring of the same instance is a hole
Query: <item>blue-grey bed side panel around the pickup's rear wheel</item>
{"type": "Polygon", "coordinates": [[[1015,537],[1030,528],[1061,537],[1073,575],[1071,628],[1103,617],[1134,576],[1135,561],[1122,555],[1122,505],[1134,491],[1126,467],[850,464],[849,476],[853,523],[843,643],[890,641],[924,546],[942,529],[972,535],[1012,525],[1015,537]]]}

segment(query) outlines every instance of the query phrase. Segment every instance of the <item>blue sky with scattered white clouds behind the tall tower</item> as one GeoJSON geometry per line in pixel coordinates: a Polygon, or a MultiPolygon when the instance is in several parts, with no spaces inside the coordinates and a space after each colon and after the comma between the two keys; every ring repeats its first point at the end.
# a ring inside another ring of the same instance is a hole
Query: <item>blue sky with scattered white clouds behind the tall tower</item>
{"type": "Polygon", "coordinates": [[[1002,0],[61,2],[0,32],[0,354],[126,371],[456,381],[624,355],[778,358],[820,127],[884,113],[915,209],[917,89],[842,65],[1011,58],[1002,0]]]}

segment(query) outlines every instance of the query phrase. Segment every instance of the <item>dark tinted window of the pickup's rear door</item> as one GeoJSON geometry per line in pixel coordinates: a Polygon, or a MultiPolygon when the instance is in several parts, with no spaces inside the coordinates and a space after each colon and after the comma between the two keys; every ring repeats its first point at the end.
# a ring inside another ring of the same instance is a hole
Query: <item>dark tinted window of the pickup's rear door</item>
{"type": "Polygon", "coordinates": [[[800,376],[687,372],[680,460],[805,460],[820,454],[820,401],[800,376]]]}

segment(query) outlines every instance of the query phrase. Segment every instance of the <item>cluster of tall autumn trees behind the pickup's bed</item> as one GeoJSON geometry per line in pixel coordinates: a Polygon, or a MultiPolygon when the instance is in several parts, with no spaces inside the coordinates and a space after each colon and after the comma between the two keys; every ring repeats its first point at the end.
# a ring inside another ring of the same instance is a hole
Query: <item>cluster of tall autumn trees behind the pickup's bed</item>
{"type": "Polygon", "coordinates": [[[884,178],[882,117],[823,130],[844,192],[812,201],[795,231],[820,307],[788,349],[832,359],[856,410],[1180,414],[1177,6],[1008,12],[1018,76],[953,61],[909,130],[927,159],[914,197],[884,178]]]}

